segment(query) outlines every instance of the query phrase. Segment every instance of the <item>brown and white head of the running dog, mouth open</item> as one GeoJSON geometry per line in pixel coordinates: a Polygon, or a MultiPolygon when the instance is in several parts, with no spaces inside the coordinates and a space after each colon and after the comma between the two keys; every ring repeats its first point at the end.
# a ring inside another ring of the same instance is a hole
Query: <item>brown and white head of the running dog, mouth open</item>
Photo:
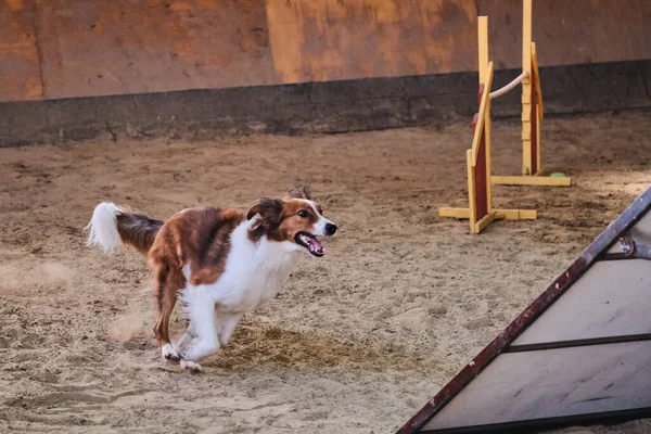
{"type": "Polygon", "coordinates": [[[252,239],[289,242],[317,257],[323,256],[317,237],[332,237],[337,229],[323,217],[321,206],[310,200],[305,187],[291,189],[284,199],[261,199],[248,209],[246,219],[255,219],[250,228],[252,239]]]}

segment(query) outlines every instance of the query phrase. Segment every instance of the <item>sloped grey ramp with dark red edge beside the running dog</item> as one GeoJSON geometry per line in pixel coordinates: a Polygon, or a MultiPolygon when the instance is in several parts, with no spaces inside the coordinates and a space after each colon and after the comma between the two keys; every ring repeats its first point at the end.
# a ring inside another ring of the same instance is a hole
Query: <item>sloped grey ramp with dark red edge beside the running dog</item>
{"type": "Polygon", "coordinates": [[[398,434],[651,418],[651,189],[398,434]]]}

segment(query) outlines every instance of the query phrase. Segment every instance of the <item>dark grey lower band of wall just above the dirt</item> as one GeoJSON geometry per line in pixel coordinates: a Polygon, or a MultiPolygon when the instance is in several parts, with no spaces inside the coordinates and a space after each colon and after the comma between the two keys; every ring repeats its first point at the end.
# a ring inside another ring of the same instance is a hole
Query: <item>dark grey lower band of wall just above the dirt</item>
{"type": "MultiPolygon", "coordinates": [[[[498,71],[495,87],[516,74],[516,69],[498,71]]],[[[477,78],[476,73],[464,72],[0,102],[0,148],[97,137],[212,138],[240,132],[436,128],[450,122],[467,122],[470,130],[477,110],[477,78]]],[[[540,80],[546,118],[651,107],[651,60],[546,66],[540,69],[540,80]]],[[[519,118],[521,113],[519,91],[501,97],[490,107],[494,118],[519,118]]]]}

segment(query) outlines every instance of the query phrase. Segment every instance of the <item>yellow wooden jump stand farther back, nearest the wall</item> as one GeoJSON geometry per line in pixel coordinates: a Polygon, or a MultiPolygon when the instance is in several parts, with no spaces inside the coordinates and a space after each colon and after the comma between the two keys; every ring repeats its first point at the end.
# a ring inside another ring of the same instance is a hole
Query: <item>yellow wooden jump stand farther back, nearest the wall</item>
{"type": "MultiPolygon", "coordinates": [[[[532,0],[524,0],[522,8],[522,74],[499,91],[497,98],[522,84],[522,176],[494,176],[492,182],[502,186],[570,187],[572,178],[540,176],[540,122],[542,120],[542,93],[538,76],[536,43],[532,41],[532,0]]],[[[488,34],[480,34],[480,58],[482,49],[488,50],[488,34]],[[482,38],[486,42],[482,44],[482,38]]]]}

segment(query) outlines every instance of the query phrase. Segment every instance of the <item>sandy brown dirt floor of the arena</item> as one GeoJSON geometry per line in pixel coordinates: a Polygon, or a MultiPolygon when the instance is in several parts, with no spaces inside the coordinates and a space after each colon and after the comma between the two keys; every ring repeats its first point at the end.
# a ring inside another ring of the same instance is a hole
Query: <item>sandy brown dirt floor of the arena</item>
{"type": "MultiPolygon", "coordinates": [[[[495,188],[539,219],[478,237],[436,215],[465,204],[465,124],[0,150],[0,432],[392,433],[651,186],[650,131],[648,112],[547,119],[544,163],[576,186],[495,188]],[[163,362],[145,263],[86,247],[93,207],[245,209],[294,183],[341,226],[326,256],[204,373],[163,362]]],[[[495,173],[520,170],[519,133],[494,123],[495,173]]]]}

